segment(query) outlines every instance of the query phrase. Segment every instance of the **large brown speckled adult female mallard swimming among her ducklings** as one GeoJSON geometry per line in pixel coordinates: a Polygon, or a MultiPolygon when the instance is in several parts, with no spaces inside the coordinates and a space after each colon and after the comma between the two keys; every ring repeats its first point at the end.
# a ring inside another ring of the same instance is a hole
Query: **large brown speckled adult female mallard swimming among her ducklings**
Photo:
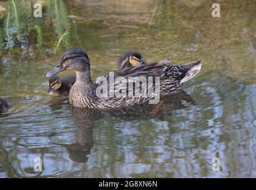
{"type": "MultiPolygon", "coordinates": [[[[168,62],[169,59],[153,64],[120,69],[113,72],[113,77],[114,79],[117,77],[123,77],[125,80],[128,79],[128,83],[132,83],[132,86],[134,81],[129,81],[128,77],[159,77],[160,96],[163,97],[181,91],[182,83],[194,77],[201,69],[201,61],[191,62],[187,65],[165,66],[168,62]]],[[[103,93],[102,96],[100,92],[106,90],[106,88],[101,88],[102,84],[100,83],[91,82],[89,57],[82,49],[74,48],[67,50],[62,56],[61,61],[45,76],[51,77],[65,69],[74,69],[77,75],[77,80],[69,91],[69,102],[75,107],[106,109],[140,105],[147,103],[150,99],[149,96],[145,97],[141,94],[139,94],[140,96],[110,96],[113,91],[110,91],[109,84],[112,75],[109,74],[104,77],[108,82],[106,87],[107,91],[109,91],[103,93]],[[100,90],[98,87],[100,87],[100,90]]],[[[115,88],[122,89],[119,88],[119,84],[119,81],[115,83],[115,88]]]]}

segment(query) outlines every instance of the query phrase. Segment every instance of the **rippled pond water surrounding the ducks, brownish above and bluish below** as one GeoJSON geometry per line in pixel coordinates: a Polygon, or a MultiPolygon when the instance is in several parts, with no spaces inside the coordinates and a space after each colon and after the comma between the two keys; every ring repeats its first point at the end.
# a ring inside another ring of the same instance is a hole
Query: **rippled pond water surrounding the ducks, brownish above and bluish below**
{"type": "Polygon", "coordinates": [[[12,109],[0,116],[0,177],[255,178],[256,6],[223,1],[213,18],[212,3],[159,1],[154,15],[155,1],[68,5],[78,15],[71,46],[86,49],[93,80],[117,69],[128,49],[148,62],[203,61],[185,91],[159,109],[75,109],[45,94],[44,74],[61,53],[1,52],[0,96],[12,109]],[[36,157],[43,172],[33,170],[36,157]],[[220,172],[211,170],[214,157],[220,172]]]}

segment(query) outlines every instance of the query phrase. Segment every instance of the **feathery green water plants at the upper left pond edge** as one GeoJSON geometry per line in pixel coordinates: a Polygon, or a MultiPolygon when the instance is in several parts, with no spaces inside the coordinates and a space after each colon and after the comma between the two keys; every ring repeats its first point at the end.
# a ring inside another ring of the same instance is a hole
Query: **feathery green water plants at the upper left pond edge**
{"type": "Polygon", "coordinates": [[[5,16],[0,18],[0,49],[19,47],[23,43],[43,46],[43,30],[53,30],[53,52],[69,45],[70,24],[67,9],[62,0],[46,0],[46,12],[42,18],[34,17],[38,7],[35,0],[9,0],[5,16]]]}

